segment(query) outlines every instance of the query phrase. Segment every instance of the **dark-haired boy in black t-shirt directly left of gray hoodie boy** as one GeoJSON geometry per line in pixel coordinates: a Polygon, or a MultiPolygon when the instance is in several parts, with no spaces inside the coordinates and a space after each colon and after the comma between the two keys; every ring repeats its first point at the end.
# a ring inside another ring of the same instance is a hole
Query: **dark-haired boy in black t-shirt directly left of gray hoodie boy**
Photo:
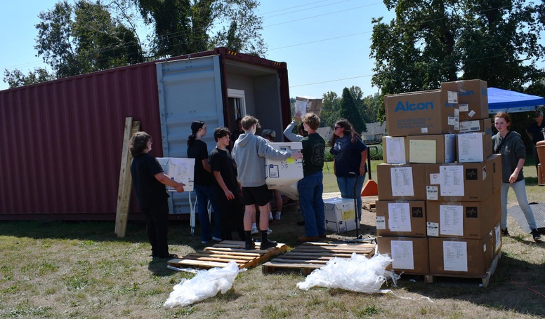
{"type": "Polygon", "coordinates": [[[210,152],[209,162],[214,174],[214,193],[220,210],[221,233],[225,240],[232,240],[232,231],[237,231],[240,240],[245,240],[242,224],[241,188],[237,181],[235,165],[227,149],[230,140],[228,128],[216,128],[216,148],[210,152]]]}

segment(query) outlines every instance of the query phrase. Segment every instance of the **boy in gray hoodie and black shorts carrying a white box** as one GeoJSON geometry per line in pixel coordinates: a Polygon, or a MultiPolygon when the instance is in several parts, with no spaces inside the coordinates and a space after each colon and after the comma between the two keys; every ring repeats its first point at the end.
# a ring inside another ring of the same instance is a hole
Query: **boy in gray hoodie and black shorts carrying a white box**
{"type": "Polygon", "coordinates": [[[276,247],[277,243],[268,240],[269,227],[269,200],[270,191],[265,185],[265,158],[285,160],[289,157],[303,158],[301,151],[289,153],[277,151],[268,144],[268,141],[257,136],[256,130],[260,127],[254,116],[244,116],[241,121],[244,134],[240,135],[232,148],[232,158],[237,163],[238,180],[242,185],[242,199],[244,201],[244,233],[246,250],[253,250],[256,246],[251,238],[251,222],[256,216],[256,206],[259,206],[259,228],[261,230],[261,250],[276,247]]]}

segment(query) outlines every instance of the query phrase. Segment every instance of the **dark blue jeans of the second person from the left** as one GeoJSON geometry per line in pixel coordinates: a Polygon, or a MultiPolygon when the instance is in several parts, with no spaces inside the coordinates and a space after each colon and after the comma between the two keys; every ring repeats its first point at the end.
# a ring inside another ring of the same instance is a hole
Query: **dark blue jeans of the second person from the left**
{"type": "Polygon", "coordinates": [[[199,223],[201,224],[201,240],[209,241],[210,219],[208,217],[208,201],[212,204],[214,210],[214,237],[221,238],[220,229],[220,210],[214,194],[214,186],[204,186],[195,184],[195,194],[197,194],[197,214],[199,214],[199,223]]]}

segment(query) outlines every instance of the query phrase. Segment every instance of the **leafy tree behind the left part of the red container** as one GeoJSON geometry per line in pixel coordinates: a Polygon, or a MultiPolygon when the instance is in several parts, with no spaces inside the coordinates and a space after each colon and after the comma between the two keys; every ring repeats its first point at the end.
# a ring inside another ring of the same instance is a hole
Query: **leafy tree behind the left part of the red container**
{"type": "Polygon", "coordinates": [[[27,76],[5,70],[4,81],[11,88],[143,62],[138,36],[112,18],[100,1],[60,1],[39,18],[34,48],[52,70],[41,68],[27,76]]]}

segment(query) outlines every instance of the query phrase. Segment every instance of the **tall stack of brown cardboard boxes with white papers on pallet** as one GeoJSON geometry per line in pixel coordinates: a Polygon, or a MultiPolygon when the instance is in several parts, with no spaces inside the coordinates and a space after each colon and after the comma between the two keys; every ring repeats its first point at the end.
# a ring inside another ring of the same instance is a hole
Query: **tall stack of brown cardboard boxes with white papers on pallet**
{"type": "Polygon", "coordinates": [[[501,248],[501,158],[485,81],[385,97],[376,233],[395,271],[484,276],[501,248]]]}

